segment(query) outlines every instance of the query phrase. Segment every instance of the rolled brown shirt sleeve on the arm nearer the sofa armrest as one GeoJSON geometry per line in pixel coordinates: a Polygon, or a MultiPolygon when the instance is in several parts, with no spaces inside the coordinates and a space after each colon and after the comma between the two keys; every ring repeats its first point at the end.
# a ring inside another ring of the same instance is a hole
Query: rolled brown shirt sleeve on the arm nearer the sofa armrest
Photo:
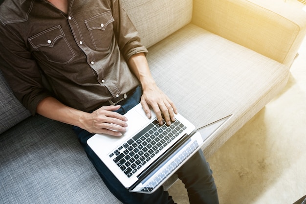
{"type": "Polygon", "coordinates": [[[120,0],[112,0],[112,15],[114,18],[114,32],[121,53],[126,61],[133,54],[148,53],[147,48],[141,44],[138,31],[131,22],[128,14],[122,8],[120,0]]]}

